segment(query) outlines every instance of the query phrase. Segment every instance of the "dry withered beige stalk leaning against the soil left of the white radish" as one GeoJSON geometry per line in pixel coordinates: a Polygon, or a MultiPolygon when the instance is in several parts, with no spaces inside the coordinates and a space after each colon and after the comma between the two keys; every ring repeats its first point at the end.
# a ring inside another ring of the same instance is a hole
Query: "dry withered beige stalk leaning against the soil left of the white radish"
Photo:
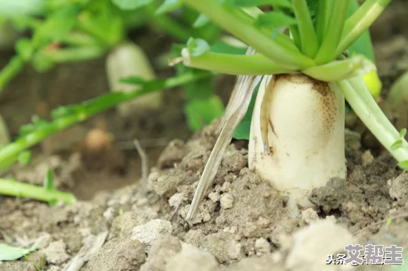
{"type": "Polygon", "coordinates": [[[232,102],[233,106],[231,106],[231,109],[229,110],[231,110],[231,112],[233,113],[231,113],[231,116],[229,118],[225,118],[223,129],[221,129],[220,135],[218,136],[211,155],[209,155],[207,164],[205,165],[203,174],[201,175],[199,185],[197,186],[196,192],[194,193],[190,209],[188,210],[188,214],[185,217],[185,220],[187,221],[191,221],[191,219],[197,213],[197,210],[199,209],[201,201],[203,200],[203,197],[205,195],[205,191],[207,191],[207,188],[210,184],[212,184],[214,180],[214,177],[218,171],[218,166],[220,166],[225,149],[227,149],[227,146],[231,142],[235,129],[238,124],[240,124],[242,118],[244,118],[245,113],[247,113],[253,90],[256,88],[256,86],[260,82],[260,79],[262,78],[261,76],[239,77],[242,78],[238,78],[240,87],[238,87],[238,89],[236,90],[237,95],[235,98],[240,102],[232,102]]]}

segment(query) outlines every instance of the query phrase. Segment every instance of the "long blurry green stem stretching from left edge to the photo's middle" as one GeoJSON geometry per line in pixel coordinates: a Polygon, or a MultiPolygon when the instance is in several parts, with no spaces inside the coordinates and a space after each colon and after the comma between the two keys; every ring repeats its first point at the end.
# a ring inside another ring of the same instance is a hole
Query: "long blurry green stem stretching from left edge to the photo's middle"
{"type": "Polygon", "coordinates": [[[28,133],[27,135],[22,136],[16,141],[2,147],[0,149],[0,164],[8,164],[8,161],[10,159],[16,158],[19,153],[34,146],[38,142],[41,142],[49,135],[52,135],[57,131],[67,129],[73,124],[82,122],[83,120],[86,120],[87,118],[90,118],[97,113],[105,111],[106,109],[115,107],[121,102],[132,100],[133,98],[137,98],[138,96],[150,93],[152,91],[177,87],[179,85],[183,85],[194,80],[207,78],[209,76],[212,76],[212,74],[209,72],[201,72],[194,74],[184,74],[183,76],[172,77],[166,80],[155,80],[152,81],[152,83],[146,83],[144,87],[133,92],[115,92],[113,94],[106,94],[104,96],[100,96],[93,100],[84,102],[82,106],[80,106],[80,110],[70,113],[67,116],[57,118],[53,122],[49,122],[47,125],[39,128],[38,130],[33,131],[32,133],[28,133]]]}

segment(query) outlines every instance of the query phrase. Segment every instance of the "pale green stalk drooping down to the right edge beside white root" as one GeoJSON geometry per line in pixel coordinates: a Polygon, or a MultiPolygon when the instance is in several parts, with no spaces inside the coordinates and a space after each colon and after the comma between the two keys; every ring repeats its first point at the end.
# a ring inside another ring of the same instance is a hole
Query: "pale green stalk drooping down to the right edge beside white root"
{"type": "Polygon", "coordinates": [[[361,76],[348,80],[338,81],[337,84],[343,91],[345,99],[348,101],[354,112],[364,122],[368,129],[383,144],[385,149],[391,153],[398,162],[408,160],[408,143],[400,138],[400,133],[378,107],[372,97],[370,90],[364,83],[361,76]],[[397,140],[403,140],[403,147],[392,148],[397,140]]]}

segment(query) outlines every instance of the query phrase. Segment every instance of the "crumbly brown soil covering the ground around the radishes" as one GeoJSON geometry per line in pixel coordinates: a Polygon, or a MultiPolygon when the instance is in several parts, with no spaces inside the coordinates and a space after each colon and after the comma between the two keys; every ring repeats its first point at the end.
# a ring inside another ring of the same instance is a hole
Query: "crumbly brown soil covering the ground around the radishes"
{"type": "MultiPolygon", "coordinates": [[[[406,10],[406,1],[394,1],[372,27],[383,81],[379,103],[398,129],[408,127],[408,110],[387,105],[387,93],[408,69],[406,10]]],[[[155,35],[144,32],[135,39],[148,48],[152,61],[163,50],[163,43],[149,46],[155,35]]],[[[7,59],[3,53],[1,63],[7,59]]],[[[171,69],[158,74],[168,76],[171,69]]],[[[233,83],[230,76],[214,82],[224,102],[233,83]]],[[[61,65],[48,74],[27,67],[1,97],[0,113],[16,135],[33,113],[47,118],[58,105],[107,91],[104,59],[61,65]]],[[[53,135],[34,148],[29,166],[3,174],[41,185],[51,167],[57,188],[74,193],[78,204],[0,197],[0,241],[37,248],[30,259],[1,262],[0,270],[36,270],[32,262],[41,266],[41,261],[44,270],[54,271],[395,269],[326,265],[327,254],[343,251],[348,243],[407,249],[408,173],[398,169],[356,116],[346,116],[347,180],[332,179],[313,190],[309,199],[317,210],[292,219],[286,198],[247,168],[247,142],[234,140],[199,214],[188,224],[185,215],[216,141],[218,120],[193,134],[180,110],[181,89],[163,95],[166,107],[128,118],[113,109],[53,135]],[[90,151],[90,131],[111,133],[114,140],[90,151]],[[146,190],[135,138],[148,155],[146,190]]]]}

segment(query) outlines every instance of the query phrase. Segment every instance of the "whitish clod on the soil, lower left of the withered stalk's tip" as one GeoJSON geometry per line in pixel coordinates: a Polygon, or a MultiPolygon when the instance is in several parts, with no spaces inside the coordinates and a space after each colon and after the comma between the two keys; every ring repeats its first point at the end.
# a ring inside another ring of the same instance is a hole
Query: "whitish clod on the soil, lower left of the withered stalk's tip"
{"type": "Polygon", "coordinates": [[[152,242],[155,241],[159,235],[170,235],[171,232],[172,224],[170,221],[153,219],[144,225],[133,228],[131,239],[141,242],[147,253],[150,250],[152,242]]]}

